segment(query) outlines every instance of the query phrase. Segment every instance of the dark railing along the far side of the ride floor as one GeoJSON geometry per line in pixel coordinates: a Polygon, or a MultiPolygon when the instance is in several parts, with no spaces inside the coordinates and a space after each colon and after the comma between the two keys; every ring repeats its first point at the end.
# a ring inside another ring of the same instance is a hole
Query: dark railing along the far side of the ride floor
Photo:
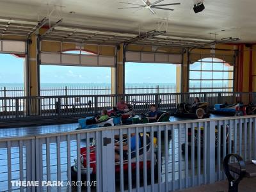
{"type": "Polygon", "coordinates": [[[180,102],[192,103],[198,97],[201,101],[214,104],[256,102],[256,93],[148,93],[124,95],[72,95],[40,97],[0,97],[1,121],[22,119],[45,119],[90,116],[102,109],[111,109],[121,98],[131,104],[135,113],[148,111],[150,104],[159,110],[175,111],[180,102]]]}

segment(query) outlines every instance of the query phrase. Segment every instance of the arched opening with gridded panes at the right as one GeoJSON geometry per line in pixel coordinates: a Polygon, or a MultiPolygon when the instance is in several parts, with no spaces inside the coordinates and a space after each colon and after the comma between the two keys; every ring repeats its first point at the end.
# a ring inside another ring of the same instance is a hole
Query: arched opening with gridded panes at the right
{"type": "Polygon", "coordinates": [[[233,92],[234,66],[219,58],[189,65],[189,92],[233,92]]]}

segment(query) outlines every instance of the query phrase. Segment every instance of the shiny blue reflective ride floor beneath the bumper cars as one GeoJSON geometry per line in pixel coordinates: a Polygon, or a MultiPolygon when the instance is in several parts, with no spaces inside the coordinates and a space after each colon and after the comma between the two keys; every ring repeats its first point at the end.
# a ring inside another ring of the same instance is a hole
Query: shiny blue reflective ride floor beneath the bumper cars
{"type": "MultiPolygon", "coordinates": [[[[212,115],[211,118],[218,118],[218,117],[223,117],[220,115],[212,115]]],[[[186,118],[176,118],[171,116],[170,121],[175,122],[175,121],[180,121],[180,120],[188,120],[186,118]]],[[[68,132],[68,131],[74,131],[77,128],[77,124],[62,124],[62,125],[42,125],[42,126],[35,126],[35,127],[15,127],[15,128],[7,128],[7,129],[0,129],[0,138],[9,138],[9,137],[15,137],[15,136],[35,136],[38,134],[46,134],[46,133],[56,133],[56,132],[68,132]]],[[[175,132],[175,137],[178,137],[178,132],[175,132]]],[[[182,134],[184,136],[184,134],[182,134]]],[[[182,139],[182,138],[181,138],[182,139]]],[[[178,140],[176,140],[178,141],[178,140]]],[[[168,146],[168,175],[169,179],[172,180],[172,140],[171,138],[168,139],[168,142],[170,143],[168,146]]],[[[175,143],[175,170],[179,170],[179,149],[178,149],[178,144],[175,143]]],[[[162,150],[164,149],[164,142],[162,144],[163,146],[161,147],[162,150]]],[[[81,147],[85,146],[85,141],[81,141],[81,147]]],[[[66,143],[61,143],[61,180],[66,180],[67,181],[67,144],[66,143]]],[[[70,150],[71,150],[71,163],[74,164],[74,159],[76,159],[77,156],[77,150],[76,150],[76,141],[72,141],[70,143],[70,150]]],[[[57,179],[57,155],[56,155],[56,144],[52,143],[50,145],[50,153],[51,153],[51,180],[56,180],[57,179]]],[[[12,179],[19,179],[19,148],[12,148],[11,151],[11,157],[12,157],[12,179]],[[15,164],[17,162],[17,164],[15,164]]],[[[163,151],[164,154],[164,151],[163,151]]],[[[46,160],[46,157],[43,157],[43,161],[46,160]]],[[[164,164],[164,156],[163,156],[163,161],[162,161],[162,180],[164,181],[164,170],[166,164],[164,164]]],[[[26,161],[26,157],[24,156],[24,163],[26,161]]],[[[190,160],[189,160],[190,161],[190,160]]],[[[45,161],[44,161],[45,162],[45,161]]],[[[0,191],[7,191],[7,151],[6,148],[0,148],[0,191]]],[[[182,155],[182,175],[184,175],[185,172],[185,160],[184,156],[182,155]]],[[[196,162],[195,162],[196,164],[196,162]]],[[[44,169],[45,170],[45,169],[44,169]]],[[[190,170],[189,170],[190,171],[190,170]]],[[[24,170],[24,172],[26,172],[24,170]]],[[[196,170],[195,170],[196,172],[196,170]]],[[[46,180],[46,173],[43,173],[44,176],[43,178],[46,180]]],[[[179,172],[175,171],[175,175],[179,177],[179,172]]],[[[26,175],[24,175],[26,177],[26,175]]],[[[127,187],[127,186],[126,186],[127,187]]],[[[118,189],[118,186],[116,186],[116,189],[118,189]]],[[[63,189],[65,191],[65,189],[63,189]]],[[[19,189],[17,189],[19,191],[19,189]]],[[[54,191],[54,189],[53,189],[54,191]]]]}

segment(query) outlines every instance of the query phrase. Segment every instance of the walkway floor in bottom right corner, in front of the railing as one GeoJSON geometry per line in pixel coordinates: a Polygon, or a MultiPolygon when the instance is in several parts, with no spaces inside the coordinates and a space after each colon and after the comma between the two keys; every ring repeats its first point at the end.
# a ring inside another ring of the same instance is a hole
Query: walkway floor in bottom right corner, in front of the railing
{"type": "MultiPolygon", "coordinates": [[[[228,181],[220,181],[214,184],[202,185],[196,188],[189,188],[177,192],[226,192],[228,191],[228,181]]],[[[255,192],[256,191],[256,177],[244,178],[239,184],[239,192],[255,192]]]]}

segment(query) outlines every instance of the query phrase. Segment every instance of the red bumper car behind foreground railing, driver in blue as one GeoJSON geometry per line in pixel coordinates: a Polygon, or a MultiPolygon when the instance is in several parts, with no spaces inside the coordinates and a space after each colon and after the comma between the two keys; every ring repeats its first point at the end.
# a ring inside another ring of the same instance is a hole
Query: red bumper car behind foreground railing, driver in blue
{"type": "MultiPolygon", "coordinates": [[[[139,148],[139,166],[140,166],[140,179],[143,180],[143,137],[139,137],[141,142],[141,148],[139,148]]],[[[145,147],[147,148],[147,171],[148,171],[148,179],[150,179],[150,170],[151,170],[151,153],[154,153],[154,170],[155,170],[155,178],[157,179],[158,174],[158,166],[157,166],[157,141],[154,138],[154,148],[150,147],[150,138],[147,136],[147,143],[145,147]]],[[[124,140],[123,140],[124,141],[124,140]]],[[[118,141],[119,142],[119,141],[118,141]]],[[[96,180],[96,147],[95,145],[90,146],[90,179],[96,180]]],[[[86,173],[87,173],[87,164],[86,164],[86,147],[81,148],[81,181],[86,181],[86,173]]],[[[128,178],[128,154],[124,150],[123,152],[123,167],[124,167],[124,180],[128,178]]],[[[120,161],[113,159],[115,161],[115,177],[116,181],[120,180],[120,161]]],[[[132,178],[136,179],[136,150],[131,151],[131,170],[132,170],[132,178]]],[[[77,180],[77,160],[74,160],[74,165],[71,167],[71,179],[72,181],[77,180]]]]}

